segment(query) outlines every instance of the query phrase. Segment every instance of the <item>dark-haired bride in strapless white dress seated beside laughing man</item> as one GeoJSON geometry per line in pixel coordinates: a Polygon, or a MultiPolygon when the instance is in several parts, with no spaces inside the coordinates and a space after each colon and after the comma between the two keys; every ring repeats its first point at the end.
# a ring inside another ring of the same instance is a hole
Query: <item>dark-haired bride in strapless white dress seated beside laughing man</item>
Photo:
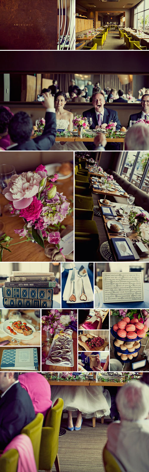
{"type": "MultiPolygon", "coordinates": [[[[57,92],[54,99],[54,106],[56,110],[56,120],[57,120],[57,131],[72,131],[73,125],[73,118],[74,115],[68,110],[65,110],[66,105],[66,93],[65,92],[57,92]]],[[[87,148],[84,144],[81,143],[69,143],[66,142],[56,142],[50,149],[50,151],[87,151],[87,148]]]]}

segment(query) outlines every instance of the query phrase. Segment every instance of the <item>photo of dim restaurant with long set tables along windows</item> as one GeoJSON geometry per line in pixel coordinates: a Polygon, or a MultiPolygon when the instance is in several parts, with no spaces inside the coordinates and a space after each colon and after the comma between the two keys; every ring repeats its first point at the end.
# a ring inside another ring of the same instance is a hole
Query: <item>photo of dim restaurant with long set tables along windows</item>
{"type": "Polygon", "coordinates": [[[75,152],[76,261],[149,261],[148,175],[148,152],[75,152]]]}

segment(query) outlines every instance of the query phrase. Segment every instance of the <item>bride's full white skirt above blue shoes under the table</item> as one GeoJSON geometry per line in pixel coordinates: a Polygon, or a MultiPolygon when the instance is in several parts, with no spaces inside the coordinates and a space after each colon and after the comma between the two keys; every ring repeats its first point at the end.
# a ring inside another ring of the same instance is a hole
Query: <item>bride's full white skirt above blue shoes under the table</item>
{"type": "Polygon", "coordinates": [[[64,410],[79,410],[84,418],[110,414],[111,397],[103,387],[51,386],[52,405],[59,397],[64,401],[64,410]]]}

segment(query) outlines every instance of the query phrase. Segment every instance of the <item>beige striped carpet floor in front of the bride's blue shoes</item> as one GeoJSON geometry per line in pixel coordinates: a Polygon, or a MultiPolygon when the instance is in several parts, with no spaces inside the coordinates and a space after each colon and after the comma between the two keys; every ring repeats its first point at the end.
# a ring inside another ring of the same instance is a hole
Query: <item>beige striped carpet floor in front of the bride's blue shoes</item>
{"type": "MultiPolygon", "coordinates": [[[[83,420],[80,431],[68,431],[59,438],[58,457],[61,472],[104,472],[102,451],[107,442],[107,428],[111,420],[96,419],[92,428],[92,419],[83,420]]],[[[74,421],[75,422],[75,421],[74,421]]],[[[67,427],[67,419],[61,426],[67,427]]],[[[55,472],[55,465],[52,467],[55,472]]]]}

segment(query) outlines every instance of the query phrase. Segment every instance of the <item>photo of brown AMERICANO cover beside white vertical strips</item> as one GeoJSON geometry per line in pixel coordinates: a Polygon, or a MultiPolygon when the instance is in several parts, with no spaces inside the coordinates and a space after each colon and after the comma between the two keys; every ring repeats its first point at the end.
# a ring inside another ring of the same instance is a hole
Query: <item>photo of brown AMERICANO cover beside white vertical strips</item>
{"type": "Polygon", "coordinates": [[[14,4],[2,0],[0,18],[0,50],[75,49],[75,0],[43,0],[42,6],[37,0],[35,9],[32,4],[22,6],[19,0],[14,4]]]}

